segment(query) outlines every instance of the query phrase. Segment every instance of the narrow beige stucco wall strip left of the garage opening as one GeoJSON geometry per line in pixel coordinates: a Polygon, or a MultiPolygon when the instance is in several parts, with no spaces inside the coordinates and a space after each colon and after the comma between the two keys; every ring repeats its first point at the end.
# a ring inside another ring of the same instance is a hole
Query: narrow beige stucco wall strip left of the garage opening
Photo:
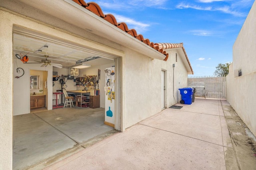
{"type": "Polygon", "coordinates": [[[12,169],[12,22],[0,10],[0,169],[12,169]]]}

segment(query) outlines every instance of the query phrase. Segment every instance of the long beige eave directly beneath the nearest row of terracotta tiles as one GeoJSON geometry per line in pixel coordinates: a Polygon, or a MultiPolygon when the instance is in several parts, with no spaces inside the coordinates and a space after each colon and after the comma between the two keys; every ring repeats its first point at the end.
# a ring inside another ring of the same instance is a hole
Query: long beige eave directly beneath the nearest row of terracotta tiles
{"type": "Polygon", "coordinates": [[[141,42],[137,38],[127,34],[120,28],[117,28],[110,22],[104,20],[103,18],[97,16],[93,12],[87,10],[83,6],[78,5],[72,0],[58,0],[52,1],[34,1],[19,0],[20,2],[32,6],[35,9],[45,12],[51,16],[59,18],[64,22],[82,28],[83,30],[91,30],[91,34],[96,34],[102,38],[116,42],[124,47],[133,49],[138,53],[142,53],[150,58],[164,60],[166,55],[160,53],[156,49],[150,47],[149,45],[141,42]],[[56,10],[56,6],[61,7],[61,9],[68,9],[66,12],[63,10],[56,10]],[[104,28],[104,29],[102,29],[104,28]]]}

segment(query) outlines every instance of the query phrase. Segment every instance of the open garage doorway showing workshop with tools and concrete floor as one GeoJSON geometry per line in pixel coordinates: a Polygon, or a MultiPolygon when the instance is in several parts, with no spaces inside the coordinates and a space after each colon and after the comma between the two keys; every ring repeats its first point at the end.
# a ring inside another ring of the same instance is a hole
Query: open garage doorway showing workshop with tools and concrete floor
{"type": "Polygon", "coordinates": [[[14,169],[44,168],[120,130],[117,60],[14,33],[14,169]]]}

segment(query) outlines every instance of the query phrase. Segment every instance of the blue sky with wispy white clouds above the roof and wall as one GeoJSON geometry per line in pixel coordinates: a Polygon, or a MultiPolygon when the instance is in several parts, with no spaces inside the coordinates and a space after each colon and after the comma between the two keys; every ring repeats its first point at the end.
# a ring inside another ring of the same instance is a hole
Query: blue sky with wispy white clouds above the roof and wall
{"type": "MultiPolygon", "coordinates": [[[[193,76],[232,61],[232,46],[254,0],[94,0],[104,14],[154,43],[184,43],[193,76]]],[[[189,75],[189,77],[192,75],[189,75]]]]}

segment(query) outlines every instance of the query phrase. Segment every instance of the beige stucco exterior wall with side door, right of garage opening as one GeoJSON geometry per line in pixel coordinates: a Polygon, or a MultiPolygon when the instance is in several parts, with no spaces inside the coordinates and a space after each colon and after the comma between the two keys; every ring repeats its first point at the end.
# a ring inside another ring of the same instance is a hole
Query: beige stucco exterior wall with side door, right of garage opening
{"type": "Polygon", "coordinates": [[[169,52],[169,59],[161,61],[131,50],[126,51],[123,59],[124,70],[124,113],[125,127],[128,128],[161,111],[161,71],[166,70],[166,107],[175,104],[174,95],[180,100],[178,88],[187,87],[187,71],[179,55],[175,61],[176,50],[169,52]]]}

